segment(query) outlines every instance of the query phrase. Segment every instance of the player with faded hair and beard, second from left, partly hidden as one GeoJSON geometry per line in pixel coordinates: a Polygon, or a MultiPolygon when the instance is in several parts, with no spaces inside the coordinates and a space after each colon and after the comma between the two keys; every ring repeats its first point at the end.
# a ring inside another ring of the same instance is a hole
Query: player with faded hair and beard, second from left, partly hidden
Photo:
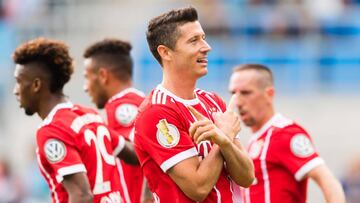
{"type": "MultiPolygon", "coordinates": [[[[130,50],[128,42],[117,39],[90,45],[84,52],[84,89],[99,109],[105,107],[109,127],[133,142],[134,120],[145,95],[133,87],[130,50]]],[[[124,198],[140,203],[144,185],[141,167],[121,161],[119,170],[123,190],[127,191],[124,198]]],[[[144,198],[151,200],[152,196],[144,198]]]]}

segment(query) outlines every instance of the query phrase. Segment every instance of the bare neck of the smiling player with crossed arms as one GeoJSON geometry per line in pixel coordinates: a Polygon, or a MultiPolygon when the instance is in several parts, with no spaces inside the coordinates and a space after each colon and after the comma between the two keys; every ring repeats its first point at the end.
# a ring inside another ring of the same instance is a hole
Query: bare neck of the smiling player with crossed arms
{"type": "Polygon", "coordinates": [[[180,74],[167,74],[164,69],[161,85],[182,99],[194,99],[196,80],[181,77],[180,74]]]}

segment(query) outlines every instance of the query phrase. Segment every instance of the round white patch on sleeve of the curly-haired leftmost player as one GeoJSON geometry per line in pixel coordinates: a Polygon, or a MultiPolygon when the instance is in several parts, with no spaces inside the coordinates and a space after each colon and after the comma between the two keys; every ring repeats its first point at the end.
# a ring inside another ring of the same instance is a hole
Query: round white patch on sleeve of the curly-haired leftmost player
{"type": "Polygon", "coordinates": [[[58,163],[66,156],[66,148],[62,141],[57,139],[49,139],[44,145],[46,159],[50,163],[58,163]]]}

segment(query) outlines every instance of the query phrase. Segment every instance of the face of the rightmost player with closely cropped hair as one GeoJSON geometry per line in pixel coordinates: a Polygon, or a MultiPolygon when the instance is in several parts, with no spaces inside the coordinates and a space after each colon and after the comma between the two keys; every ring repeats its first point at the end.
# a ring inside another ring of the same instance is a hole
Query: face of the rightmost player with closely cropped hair
{"type": "Polygon", "coordinates": [[[232,74],[229,90],[237,95],[237,107],[245,125],[258,130],[269,110],[269,97],[264,88],[259,86],[258,73],[243,70],[232,74]]]}

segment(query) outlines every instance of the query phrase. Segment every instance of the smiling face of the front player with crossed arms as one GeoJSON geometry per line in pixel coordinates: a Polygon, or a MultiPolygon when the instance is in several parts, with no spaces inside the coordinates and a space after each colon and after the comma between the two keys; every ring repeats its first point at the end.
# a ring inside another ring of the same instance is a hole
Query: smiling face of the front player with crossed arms
{"type": "Polygon", "coordinates": [[[199,78],[208,70],[207,54],[211,47],[205,40],[205,33],[198,21],[178,27],[180,36],[176,41],[172,62],[182,76],[199,78]]]}

